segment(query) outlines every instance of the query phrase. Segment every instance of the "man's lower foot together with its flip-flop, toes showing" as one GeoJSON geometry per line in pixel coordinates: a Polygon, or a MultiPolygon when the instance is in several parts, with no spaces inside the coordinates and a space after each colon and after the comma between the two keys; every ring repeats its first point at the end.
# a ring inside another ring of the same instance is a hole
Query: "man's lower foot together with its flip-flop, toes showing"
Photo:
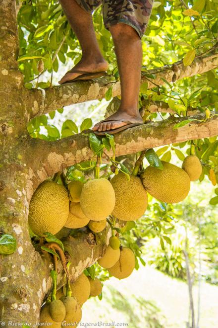
{"type": "Polygon", "coordinates": [[[143,124],[143,120],[138,110],[127,111],[118,109],[115,114],[112,114],[106,120],[97,123],[93,127],[93,131],[96,134],[104,134],[105,132],[116,133],[141,124],[143,124]]]}

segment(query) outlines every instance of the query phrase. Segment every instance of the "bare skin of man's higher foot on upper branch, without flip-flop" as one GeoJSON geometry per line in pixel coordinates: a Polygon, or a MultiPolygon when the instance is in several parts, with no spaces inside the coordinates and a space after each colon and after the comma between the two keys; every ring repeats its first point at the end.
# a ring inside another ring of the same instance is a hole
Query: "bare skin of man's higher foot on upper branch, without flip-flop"
{"type": "Polygon", "coordinates": [[[79,63],[77,63],[70,71],[68,71],[62,79],[58,82],[62,84],[64,82],[73,80],[81,75],[81,73],[74,73],[73,71],[79,70],[89,73],[99,73],[99,72],[106,72],[108,69],[108,62],[102,57],[98,61],[96,59],[92,60],[84,60],[81,59],[79,63]]]}

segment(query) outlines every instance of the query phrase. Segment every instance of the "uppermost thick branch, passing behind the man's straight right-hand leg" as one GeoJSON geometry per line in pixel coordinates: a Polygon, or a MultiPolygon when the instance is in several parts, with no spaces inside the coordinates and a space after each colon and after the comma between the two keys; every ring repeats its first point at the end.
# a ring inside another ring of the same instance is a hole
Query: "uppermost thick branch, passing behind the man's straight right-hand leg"
{"type": "MultiPolygon", "coordinates": [[[[162,68],[142,72],[141,83],[148,82],[148,88],[155,84],[162,85],[164,78],[168,82],[192,77],[196,74],[203,74],[218,67],[218,46],[216,45],[208,53],[198,56],[190,66],[185,67],[182,61],[162,68]],[[176,76],[172,70],[176,67],[176,76]],[[149,76],[155,74],[152,80],[149,76]],[[155,84],[154,84],[154,83],[155,84]]],[[[29,108],[31,108],[30,118],[49,113],[57,108],[85,102],[89,100],[102,99],[106,91],[112,86],[112,96],[120,94],[120,82],[114,82],[113,77],[96,79],[95,81],[73,82],[63,85],[56,85],[44,90],[33,89],[28,98],[29,108]]]]}

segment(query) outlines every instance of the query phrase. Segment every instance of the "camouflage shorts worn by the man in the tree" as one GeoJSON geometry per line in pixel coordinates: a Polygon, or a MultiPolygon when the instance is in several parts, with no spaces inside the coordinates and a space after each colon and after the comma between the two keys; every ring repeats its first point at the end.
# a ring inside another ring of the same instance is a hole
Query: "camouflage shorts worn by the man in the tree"
{"type": "Polygon", "coordinates": [[[140,37],[145,33],[154,0],[76,0],[87,12],[103,4],[103,18],[107,29],[117,23],[132,26],[140,37]]]}

